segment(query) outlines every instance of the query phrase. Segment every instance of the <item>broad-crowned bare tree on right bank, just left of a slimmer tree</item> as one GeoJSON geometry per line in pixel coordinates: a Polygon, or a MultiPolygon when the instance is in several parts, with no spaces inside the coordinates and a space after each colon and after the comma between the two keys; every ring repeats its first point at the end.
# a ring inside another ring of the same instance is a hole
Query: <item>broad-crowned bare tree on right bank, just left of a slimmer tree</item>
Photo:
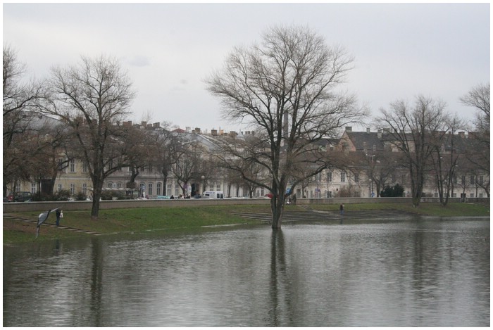
{"type": "Polygon", "coordinates": [[[390,104],[391,110],[380,109],[382,115],[376,125],[387,132],[389,142],[405,158],[411,180],[413,205],[418,207],[423,195],[423,186],[430,170],[428,159],[435,151],[437,141],[442,141],[447,132],[445,103],[418,96],[414,107],[405,101],[390,104]]]}

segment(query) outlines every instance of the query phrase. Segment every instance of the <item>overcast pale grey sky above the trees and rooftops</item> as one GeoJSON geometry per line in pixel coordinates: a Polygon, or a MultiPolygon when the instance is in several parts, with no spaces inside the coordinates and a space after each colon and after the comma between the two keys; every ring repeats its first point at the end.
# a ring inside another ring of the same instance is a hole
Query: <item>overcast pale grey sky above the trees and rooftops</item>
{"type": "Polygon", "coordinates": [[[137,89],[131,120],[239,130],[220,118],[204,78],[233,46],[271,25],[308,25],[355,58],[345,88],[374,114],[418,94],[472,118],[458,98],[489,82],[489,3],[482,4],[4,4],[4,45],[28,73],[80,56],[120,58],[137,89]],[[144,117],[143,117],[144,116],[144,117]]]}

